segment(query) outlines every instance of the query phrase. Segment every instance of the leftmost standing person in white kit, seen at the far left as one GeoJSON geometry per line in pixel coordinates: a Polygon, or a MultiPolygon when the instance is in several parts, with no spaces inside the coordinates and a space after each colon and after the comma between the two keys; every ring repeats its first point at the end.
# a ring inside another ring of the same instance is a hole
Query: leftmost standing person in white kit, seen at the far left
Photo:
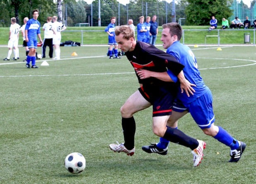
{"type": "Polygon", "coordinates": [[[9,41],[8,41],[8,54],[5,57],[5,61],[9,61],[12,55],[12,48],[14,52],[14,60],[17,60],[19,55],[18,41],[19,41],[19,29],[20,25],[16,23],[16,18],[11,18],[11,26],[9,31],[9,41]]]}

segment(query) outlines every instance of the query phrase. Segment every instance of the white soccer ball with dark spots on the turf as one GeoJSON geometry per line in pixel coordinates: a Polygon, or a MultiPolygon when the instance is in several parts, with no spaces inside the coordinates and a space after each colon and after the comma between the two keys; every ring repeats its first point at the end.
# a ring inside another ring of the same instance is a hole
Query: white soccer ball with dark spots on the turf
{"type": "Polygon", "coordinates": [[[77,174],[85,170],[85,157],[81,153],[70,153],[65,158],[65,167],[72,174],[77,174]]]}

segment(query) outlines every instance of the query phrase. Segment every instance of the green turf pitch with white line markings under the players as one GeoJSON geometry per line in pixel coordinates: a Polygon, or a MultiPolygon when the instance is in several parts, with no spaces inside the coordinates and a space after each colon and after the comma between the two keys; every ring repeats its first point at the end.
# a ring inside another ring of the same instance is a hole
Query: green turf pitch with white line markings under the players
{"type": "Polygon", "coordinates": [[[203,134],[189,114],[179,129],[207,143],[199,167],[176,144],[166,156],[143,152],[141,146],[158,141],[151,108],[134,116],[135,154],[111,151],[110,143],[123,141],[120,107],[139,85],[126,57],[109,60],[107,46],[61,47],[61,60],[37,60],[39,69],[25,67],[24,48],[19,60],[3,61],[7,47],[0,47],[0,183],[255,183],[256,48],[192,49],[213,93],[215,124],[247,144],[239,162],[229,163],[229,148],[203,134]],[[84,172],[65,170],[71,152],[85,156],[84,172]]]}

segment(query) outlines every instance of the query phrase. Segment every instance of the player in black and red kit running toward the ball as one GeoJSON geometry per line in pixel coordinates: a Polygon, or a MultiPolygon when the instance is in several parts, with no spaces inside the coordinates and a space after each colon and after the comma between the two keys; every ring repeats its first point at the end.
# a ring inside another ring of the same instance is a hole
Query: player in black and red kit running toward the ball
{"type": "MultiPolygon", "coordinates": [[[[192,93],[191,84],[185,79],[182,72],[183,65],[175,57],[157,49],[154,45],[136,41],[133,30],[129,26],[119,26],[115,29],[118,48],[126,53],[126,57],[133,66],[138,77],[140,88],[133,93],[121,107],[122,128],[124,143],[110,144],[114,152],[124,152],[132,156],[135,152],[135,119],[133,114],[153,106],[153,132],[159,137],[191,148],[194,155],[194,166],[198,166],[203,158],[205,142],[196,140],[184,134],[179,129],[167,127],[167,120],[171,115],[173,100],[176,97],[179,81],[183,84],[186,93],[192,93]],[[141,78],[137,72],[147,69],[153,72],[169,72],[173,82],[162,81],[157,78],[141,78]]],[[[167,151],[158,152],[165,155],[167,151]]]]}

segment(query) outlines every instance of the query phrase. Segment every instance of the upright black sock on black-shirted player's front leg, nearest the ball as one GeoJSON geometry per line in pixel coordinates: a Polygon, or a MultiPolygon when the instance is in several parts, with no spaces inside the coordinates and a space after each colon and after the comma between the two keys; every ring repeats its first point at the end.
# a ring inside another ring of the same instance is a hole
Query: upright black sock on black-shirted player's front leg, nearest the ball
{"type": "Polygon", "coordinates": [[[134,118],[122,117],[122,127],[123,127],[124,146],[128,150],[131,150],[134,148],[134,136],[135,136],[135,130],[136,130],[134,118]]]}

